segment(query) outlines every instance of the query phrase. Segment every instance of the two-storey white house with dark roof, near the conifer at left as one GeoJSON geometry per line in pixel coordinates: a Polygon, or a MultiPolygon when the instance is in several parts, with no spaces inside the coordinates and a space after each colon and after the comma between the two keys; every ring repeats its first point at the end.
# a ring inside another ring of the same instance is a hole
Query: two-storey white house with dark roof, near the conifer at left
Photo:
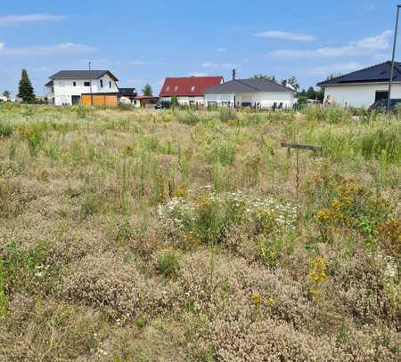
{"type": "Polygon", "coordinates": [[[109,70],[61,70],[49,78],[47,100],[55,106],[80,104],[82,94],[119,93],[119,79],[109,70]]]}

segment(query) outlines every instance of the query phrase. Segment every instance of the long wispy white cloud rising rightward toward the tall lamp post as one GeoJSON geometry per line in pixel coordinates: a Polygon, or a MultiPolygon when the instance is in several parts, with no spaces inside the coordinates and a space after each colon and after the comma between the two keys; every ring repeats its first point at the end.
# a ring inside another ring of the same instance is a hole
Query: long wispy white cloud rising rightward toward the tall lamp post
{"type": "Polygon", "coordinates": [[[389,49],[389,36],[391,34],[392,31],[387,30],[378,36],[366,37],[345,46],[323,47],[307,50],[284,49],[270,52],[267,55],[280,58],[331,58],[364,55],[369,52],[389,49]]]}

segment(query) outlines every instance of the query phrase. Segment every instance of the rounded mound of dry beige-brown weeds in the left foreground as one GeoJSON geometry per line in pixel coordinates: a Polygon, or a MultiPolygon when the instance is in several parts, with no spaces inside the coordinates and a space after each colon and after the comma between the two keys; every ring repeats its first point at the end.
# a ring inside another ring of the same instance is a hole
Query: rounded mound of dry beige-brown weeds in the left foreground
{"type": "Polygon", "coordinates": [[[162,286],[112,254],[89,255],[72,265],[58,291],[65,301],[103,308],[121,320],[160,312],[169,302],[162,286]]]}

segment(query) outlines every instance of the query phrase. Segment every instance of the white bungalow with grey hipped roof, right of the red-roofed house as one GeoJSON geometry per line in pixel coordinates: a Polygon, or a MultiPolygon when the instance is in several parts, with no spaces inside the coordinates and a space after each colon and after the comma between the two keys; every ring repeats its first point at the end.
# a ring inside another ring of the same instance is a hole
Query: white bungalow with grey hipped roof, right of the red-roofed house
{"type": "Polygon", "coordinates": [[[296,102],[293,88],[268,79],[233,79],[204,93],[208,106],[290,109],[296,102]]]}

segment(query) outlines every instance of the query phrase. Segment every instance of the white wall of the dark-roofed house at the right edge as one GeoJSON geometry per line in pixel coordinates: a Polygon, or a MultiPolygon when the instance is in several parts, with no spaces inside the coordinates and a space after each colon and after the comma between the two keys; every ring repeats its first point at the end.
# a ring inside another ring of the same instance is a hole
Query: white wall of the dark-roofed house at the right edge
{"type": "MultiPolygon", "coordinates": [[[[389,84],[328,85],[324,88],[324,100],[331,99],[340,106],[370,107],[376,91],[388,91],[389,84]]],[[[401,99],[401,84],[393,84],[391,98],[401,99]]]]}

